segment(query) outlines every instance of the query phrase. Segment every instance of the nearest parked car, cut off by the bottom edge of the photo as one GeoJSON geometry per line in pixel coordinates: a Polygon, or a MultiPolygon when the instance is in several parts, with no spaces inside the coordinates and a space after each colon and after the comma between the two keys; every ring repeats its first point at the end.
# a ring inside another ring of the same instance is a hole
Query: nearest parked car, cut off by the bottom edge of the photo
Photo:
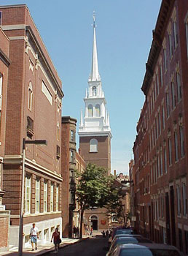
{"type": "Polygon", "coordinates": [[[111,256],[181,256],[179,249],[167,244],[117,245],[111,256]]]}

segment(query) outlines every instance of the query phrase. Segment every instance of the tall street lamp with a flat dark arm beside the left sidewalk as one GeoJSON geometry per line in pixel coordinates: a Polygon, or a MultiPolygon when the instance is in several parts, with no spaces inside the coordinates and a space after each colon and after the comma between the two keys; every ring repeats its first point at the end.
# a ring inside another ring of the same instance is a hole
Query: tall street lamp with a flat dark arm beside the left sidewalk
{"type": "Polygon", "coordinates": [[[25,159],[26,159],[26,144],[47,145],[47,140],[26,140],[23,138],[23,160],[22,160],[22,191],[20,200],[20,225],[19,225],[19,256],[23,255],[23,201],[24,201],[24,177],[25,177],[25,159]]]}

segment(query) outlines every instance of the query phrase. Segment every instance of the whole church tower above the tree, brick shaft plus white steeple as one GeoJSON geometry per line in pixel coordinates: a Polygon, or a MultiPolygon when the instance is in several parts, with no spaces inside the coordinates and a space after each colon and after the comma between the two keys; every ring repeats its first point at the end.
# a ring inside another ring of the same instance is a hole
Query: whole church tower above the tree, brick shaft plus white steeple
{"type": "Polygon", "coordinates": [[[93,15],[93,59],[85,94],[85,117],[79,124],[79,150],[85,162],[111,169],[111,129],[106,99],[98,72],[98,55],[93,15]]]}

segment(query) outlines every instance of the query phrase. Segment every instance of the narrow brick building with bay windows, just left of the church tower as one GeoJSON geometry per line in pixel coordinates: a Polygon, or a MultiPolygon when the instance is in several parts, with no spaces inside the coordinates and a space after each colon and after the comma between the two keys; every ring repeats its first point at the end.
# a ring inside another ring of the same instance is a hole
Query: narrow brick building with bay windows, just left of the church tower
{"type": "Polygon", "coordinates": [[[77,119],[62,116],[61,129],[61,174],[62,183],[62,218],[63,237],[72,237],[75,205],[75,170],[76,170],[76,127],[77,119]]]}

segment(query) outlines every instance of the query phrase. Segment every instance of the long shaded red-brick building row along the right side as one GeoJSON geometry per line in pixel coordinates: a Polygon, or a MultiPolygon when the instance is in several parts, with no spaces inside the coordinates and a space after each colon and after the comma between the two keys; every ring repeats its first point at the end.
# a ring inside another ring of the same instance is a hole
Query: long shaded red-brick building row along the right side
{"type": "Polygon", "coordinates": [[[188,1],[163,0],[141,87],[134,151],[136,227],[188,253],[188,1]]]}

